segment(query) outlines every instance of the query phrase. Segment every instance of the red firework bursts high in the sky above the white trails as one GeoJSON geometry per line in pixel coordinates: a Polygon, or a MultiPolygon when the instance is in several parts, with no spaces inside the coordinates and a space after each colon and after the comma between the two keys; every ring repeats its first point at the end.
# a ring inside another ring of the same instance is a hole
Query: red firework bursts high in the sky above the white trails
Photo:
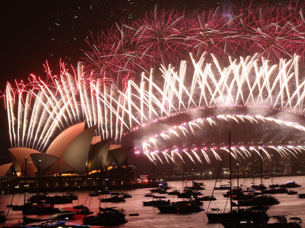
{"type": "MultiPolygon", "coordinates": [[[[106,33],[92,35],[91,50],[85,51],[86,69],[95,77],[107,74],[118,78],[123,88],[128,79],[150,73],[160,64],[178,66],[190,60],[189,52],[208,60],[228,60],[227,56],[255,55],[278,62],[305,52],[303,5],[218,7],[205,11],[161,10],[144,18],[115,24],[106,33]]],[[[301,61],[303,61],[301,59],[301,61]]]]}

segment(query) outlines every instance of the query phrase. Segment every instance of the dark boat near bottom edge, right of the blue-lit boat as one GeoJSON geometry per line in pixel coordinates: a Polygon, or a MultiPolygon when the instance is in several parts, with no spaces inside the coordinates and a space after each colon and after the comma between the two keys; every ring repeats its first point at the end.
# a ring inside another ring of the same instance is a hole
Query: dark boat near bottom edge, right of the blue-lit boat
{"type": "Polygon", "coordinates": [[[96,216],[88,216],[84,218],[84,224],[90,226],[116,226],[127,223],[125,215],[119,211],[102,212],[96,216]]]}

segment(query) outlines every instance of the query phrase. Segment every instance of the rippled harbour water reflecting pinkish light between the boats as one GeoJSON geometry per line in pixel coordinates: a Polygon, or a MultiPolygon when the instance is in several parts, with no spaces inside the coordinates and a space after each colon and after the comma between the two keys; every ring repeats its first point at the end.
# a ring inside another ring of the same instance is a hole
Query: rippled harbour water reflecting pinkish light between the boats
{"type": "MultiPolygon", "coordinates": [[[[205,184],[205,190],[201,190],[204,194],[203,196],[211,195],[213,191],[213,187],[215,184],[215,180],[195,180],[198,182],[203,182],[205,184]]],[[[224,179],[222,184],[227,184],[228,179],[224,179]]],[[[296,183],[302,185],[301,188],[294,188],[293,190],[298,193],[305,193],[305,177],[304,176],[295,176],[295,177],[275,177],[270,179],[264,179],[263,184],[268,187],[272,184],[284,184],[287,181],[296,181],[296,183]]],[[[246,186],[251,185],[253,182],[253,178],[245,178],[240,179],[239,184],[246,188],[246,186]]],[[[256,178],[254,180],[256,184],[260,184],[260,179],[256,178]]],[[[192,181],[188,181],[188,185],[192,185],[192,181]]],[[[217,185],[219,182],[217,182],[217,185]]],[[[234,180],[234,185],[237,184],[237,180],[234,180]]],[[[170,188],[182,190],[182,185],[185,185],[185,182],[182,181],[169,181],[168,185],[170,188]]],[[[169,190],[169,191],[172,191],[169,190]]],[[[289,189],[288,189],[289,190],[289,189]]],[[[216,190],[214,191],[214,196],[216,197],[216,201],[212,201],[210,203],[211,208],[219,208],[220,212],[224,211],[225,205],[227,203],[226,211],[229,210],[229,200],[224,198],[222,193],[225,193],[227,190],[216,190]]],[[[126,214],[127,223],[122,224],[117,227],[151,227],[151,228],[162,228],[162,227],[222,227],[220,223],[210,224],[205,216],[205,212],[197,212],[191,214],[160,214],[159,210],[150,206],[143,206],[143,201],[152,200],[151,197],[144,197],[145,193],[149,192],[149,189],[133,189],[133,190],[119,190],[115,192],[128,192],[132,195],[132,198],[126,199],[126,202],[120,203],[101,203],[101,207],[117,207],[116,209],[124,209],[124,213],[126,214]],[[139,213],[139,216],[128,216],[129,213],[139,213]]],[[[58,195],[62,195],[65,192],[57,192],[58,195]]],[[[78,192],[74,192],[78,194],[78,192]]],[[[56,195],[56,193],[50,193],[50,195],[56,195]]],[[[159,195],[155,193],[155,195],[159,195]]],[[[23,194],[15,194],[13,198],[13,205],[21,205],[23,204],[23,194]]],[[[27,195],[28,197],[30,196],[27,195]]],[[[180,201],[182,199],[178,199],[176,195],[167,195],[162,194],[162,196],[166,196],[167,199],[170,199],[172,202],[180,201]]],[[[290,217],[300,217],[302,221],[305,221],[305,213],[304,213],[304,205],[305,199],[300,199],[298,195],[287,195],[287,194],[273,194],[273,196],[278,199],[280,204],[270,206],[267,214],[269,216],[277,216],[277,215],[286,215],[287,218],[290,217]]],[[[13,195],[0,195],[0,211],[4,211],[5,214],[8,212],[8,208],[5,206],[6,204],[10,204],[12,201],[13,195]]],[[[101,195],[103,197],[103,195],[101,195]]],[[[109,195],[105,195],[104,197],[110,197],[109,195]]],[[[187,199],[185,199],[187,200],[187,199]]],[[[59,209],[63,210],[73,210],[72,206],[76,206],[77,202],[79,204],[84,204],[88,206],[91,211],[96,214],[99,210],[99,197],[89,197],[88,192],[80,192],[79,200],[74,200],[73,204],[61,204],[55,205],[55,207],[59,207],[59,209]]],[[[209,201],[203,202],[202,208],[207,210],[209,205],[209,201]]],[[[210,211],[209,209],[209,211],[210,211]]],[[[75,211],[75,210],[74,210],[75,211]]],[[[31,215],[27,216],[31,218],[37,218],[38,216],[31,215]]],[[[39,218],[48,218],[50,215],[39,216],[39,218]]],[[[74,224],[82,224],[84,216],[75,215],[73,220],[70,220],[71,223],[74,224]]],[[[21,211],[9,211],[7,216],[7,221],[5,222],[5,226],[15,225],[18,222],[22,221],[21,211]]],[[[2,226],[3,223],[0,223],[2,226]]],[[[302,224],[301,224],[302,226],[302,224]]],[[[91,226],[92,227],[92,226],[91,226]]],[[[304,227],[304,226],[302,226],[304,227]]]]}

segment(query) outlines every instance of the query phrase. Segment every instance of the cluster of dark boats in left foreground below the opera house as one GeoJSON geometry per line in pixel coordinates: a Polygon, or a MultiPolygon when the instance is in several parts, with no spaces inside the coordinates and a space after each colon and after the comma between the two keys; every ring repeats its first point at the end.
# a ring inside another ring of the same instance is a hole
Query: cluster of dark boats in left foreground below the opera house
{"type": "MultiPolygon", "coordinates": [[[[88,197],[99,196],[99,202],[125,202],[125,199],[131,198],[132,196],[128,193],[124,192],[110,192],[107,189],[98,191],[98,192],[90,192],[88,197]],[[104,198],[101,195],[110,195],[109,198],[104,198]]],[[[13,196],[14,197],[14,196],[13,196]]],[[[88,199],[87,197],[87,199],[88,199]]],[[[86,201],[87,201],[86,199],[86,201]]],[[[99,225],[99,226],[113,226],[121,223],[126,223],[125,214],[123,209],[116,209],[116,207],[99,207],[99,212],[96,215],[92,215],[93,212],[83,204],[78,204],[76,206],[72,206],[71,210],[60,210],[56,208],[54,205],[57,204],[70,204],[73,203],[74,200],[78,200],[78,195],[74,193],[67,192],[63,195],[54,195],[50,196],[48,193],[37,193],[36,195],[32,195],[27,199],[26,202],[26,194],[24,194],[24,203],[22,205],[13,205],[8,204],[6,207],[11,209],[12,211],[20,211],[23,214],[22,224],[18,224],[16,226],[10,226],[14,228],[18,227],[30,227],[27,224],[29,223],[37,223],[42,222],[40,225],[33,225],[33,227],[80,227],[77,224],[72,224],[67,222],[70,219],[73,219],[75,214],[84,215],[83,223],[84,227],[89,227],[91,225],[99,225]],[[28,215],[51,215],[51,217],[46,219],[41,218],[30,218],[28,215]],[[72,224],[72,225],[71,225],[72,224]]],[[[13,202],[13,199],[12,199],[13,202]]],[[[90,201],[91,202],[91,201],[90,201]]],[[[85,202],[86,203],[86,202],[85,202]]],[[[89,203],[90,204],[90,203],[89,203]]],[[[8,210],[8,213],[9,213],[8,210]]],[[[8,215],[7,213],[7,215],[8,215]]],[[[4,212],[0,212],[0,222],[4,222],[6,217],[4,212]]],[[[131,216],[135,216],[136,214],[131,214],[131,216]]],[[[3,226],[8,227],[8,226],[3,226]]]]}

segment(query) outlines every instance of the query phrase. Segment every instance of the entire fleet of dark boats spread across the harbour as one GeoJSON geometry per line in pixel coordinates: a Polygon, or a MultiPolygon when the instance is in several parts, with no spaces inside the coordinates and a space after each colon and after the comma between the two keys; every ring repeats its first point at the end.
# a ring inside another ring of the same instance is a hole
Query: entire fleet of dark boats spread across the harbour
{"type": "MultiPolygon", "coordinates": [[[[231,147],[229,148],[229,152],[231,153],[231,147]]],[[[160,213],[181,214],[202,212],[204,211],[204,209],[201,207],[203,206],[202,201],[214,201],[216,200],[214,191],[227,190],[226,192],[223,192],[222,195],[230,200],[230,209],[224,209],[223,212],[220,212],[220,209],[218,208],[210,208],[209,203],[204,216],[204,219],[207,218],[209,223],[221,223],[225,228],[301,227],[301,219],[299,217],[291,217],[287,219],[286,215],[270,216],[267,213],[270,206],[279,204],[279,201],[271,194],[299,195],[300,198],[305,198],[305,194],[298,194],[297,191],[290,189],[301,187],[301,185],[297,184],[295,181],[288,181],[286,184],[280,185],[271,184],[269,188],[267,188],[262,184],[261,175],[261,183],[259,185],[252,183],[252,185],[247,186],[246,189],[242,189],[242,185],[239,185],[239,171],[237,164],[237,186],[234,187],[232,186],[230,162],[229,184],[216,186],[217,182],[218,180],[215,182],[212,194],[208,196],[204,196],[202,193],[202,191],[205,190],[205,185],[195,181],[192,181],[192,186],[184,186],[181,191],[178,189],[169,191],[167,186],[150,189],[149,192],[147,190],[143,197],[145,197],[144,199],[151,198],[152,200],[143,201],[143,206],[156,207],[160,213]],[[289,190],[287,188],[289,188],[289,190]],[[172,199],[177,199],[177,201],[171,202],[170,199],[166,198],[166,195],[170,195],[172,199]],[[174,198],[175,195],[177,198],[174,198]],[[274,221],[270,222],[270,220],[274,221]]],[[[97,192],[90,192],[88,197],[99,197],[100,204],[106,202],[120,203],[125,202],[126,199],[132,198],[132,196],[128,193],[111,192],[107,189],[97,192]],[[103,196],[102,198],[101,195],[103,196]],[[110,197],[104,197],[107,195],[110,195],[110,197]]],[[[73,206],[73,211],[62,211],[54,206],[56,204],[73,203],[74,200],[78,200],[79,202],[79,195],[70,192],[63,195],[54,196],[50,196],[48,193],[37,193],[36,195],[30,196],[26,202],[26,194],[24,194],[23,205],[13,205],[12,203],[6,205],[9,209],[12,209],[13,211],[21,211],[23,214],[23,223],[11,227],[76,228],[89,227],[91,225],[113,226],[127,222],[125,219],[124,209],[117,209],[117,207],[102,208],[99,204],[99,212],[96,215],[93,215],[93,212],[89,209],[90,203],[88,206],[77,203],[76,206],[73,206]],[[53,216],[51,216],[49,219],[27,217],[27,215],[45,214],[52,214],[53,216]],[[84,225],[72,224],[70,221],[68,221],[73,218],[74,214],[84,215],[84,225]],[[38,222],[41,222],[40,225],[35,224],[33,226],[27,226],[28,223],[38,222]]],[[[86,204],[86,201],[84,204],[86,204]]],[[[129,214],[129,216],[138,215],[138,213],[129,214]]],[[[0,222],[5,221],[6,216],[4,212],[0,212],[0,222]]]]}

